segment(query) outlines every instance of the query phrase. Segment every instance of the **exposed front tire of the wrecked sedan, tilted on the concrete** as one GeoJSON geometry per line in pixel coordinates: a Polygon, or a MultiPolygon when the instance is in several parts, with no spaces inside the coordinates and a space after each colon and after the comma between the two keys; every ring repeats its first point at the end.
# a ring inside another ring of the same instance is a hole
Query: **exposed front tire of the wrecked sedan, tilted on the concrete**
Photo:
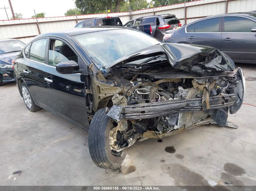
{"type": "Polygon", "coordinates": [[[117,169],[126,156],[126,149],[115,152],[110,146],[110,131],[116,127],[114,120],[110,119],[105,109],[98,110],[93,116],[89,128],[88,145],[93,162],[100,168],[117,169]]]}

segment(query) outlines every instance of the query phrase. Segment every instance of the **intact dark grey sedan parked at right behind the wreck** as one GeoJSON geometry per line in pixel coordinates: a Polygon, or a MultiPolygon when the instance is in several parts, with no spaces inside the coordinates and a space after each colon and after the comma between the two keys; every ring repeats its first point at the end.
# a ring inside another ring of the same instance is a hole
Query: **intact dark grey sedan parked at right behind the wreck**
{"type": "Polygon", "coordinates": [[[256,64],[256,13],[220,14],[167,31],[164,42],[212,46],[234,62],[256,64]]]}

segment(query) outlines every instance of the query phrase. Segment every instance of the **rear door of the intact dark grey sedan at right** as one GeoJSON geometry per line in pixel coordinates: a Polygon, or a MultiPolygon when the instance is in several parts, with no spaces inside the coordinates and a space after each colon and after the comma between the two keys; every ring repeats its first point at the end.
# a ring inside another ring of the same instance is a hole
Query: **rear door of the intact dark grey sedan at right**
{"type": "Polygon", "coordinates": [[[221,18],[209,18],[188,25],[185,28],[189,44],[211,46],[221,49],[221,18]]]}

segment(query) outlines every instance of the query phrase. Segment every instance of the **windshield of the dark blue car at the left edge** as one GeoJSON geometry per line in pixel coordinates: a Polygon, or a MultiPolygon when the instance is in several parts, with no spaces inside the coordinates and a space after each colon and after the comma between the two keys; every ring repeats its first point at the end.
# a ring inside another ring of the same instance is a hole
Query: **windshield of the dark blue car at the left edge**
{"type": "Polygon", "coordinates": [[[25,44],[19,40],[0,42],[0,54],[19,52],[24,46],[25,44]]]}

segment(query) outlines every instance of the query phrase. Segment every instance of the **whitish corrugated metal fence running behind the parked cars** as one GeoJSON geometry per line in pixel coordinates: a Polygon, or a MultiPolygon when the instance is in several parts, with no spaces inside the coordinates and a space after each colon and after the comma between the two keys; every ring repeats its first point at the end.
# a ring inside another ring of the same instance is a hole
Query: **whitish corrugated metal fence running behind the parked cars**
{"type": "MultiPolygon", "coordinates": [[[[123,24],[141,16],[152,14],[176,14],[181,23],[188,24],[206,16],[256,10],[256,0],[198,0],[163,7],[155,7],[132,12],[108,13],[119,16],[123,24]]],[[[73,28],[76,23],[89,18],[105,17],[106,14],[86,14],[77,16],[30,18],[0,21],[0,39],[17,38],[29,42],[40,33],[73,28]]]]}

